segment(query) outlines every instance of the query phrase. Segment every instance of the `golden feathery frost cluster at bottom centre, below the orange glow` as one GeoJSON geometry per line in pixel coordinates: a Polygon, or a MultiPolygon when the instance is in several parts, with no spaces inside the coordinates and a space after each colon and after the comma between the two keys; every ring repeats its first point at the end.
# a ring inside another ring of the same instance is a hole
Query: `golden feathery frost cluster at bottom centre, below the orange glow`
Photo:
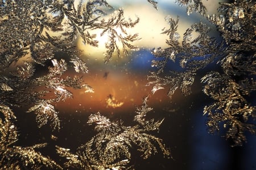
{"type": "Polygon", "coordinates": [[[95,124],[98,131],[89,142],[78,148],[76,154],[57,146],[60,156],[67,158],[67,167],[78,169],[128,169],[131,151],[138,148],[143,159],[156,152],[170,156],[170,151],[162,143],[162,139],[151,135],[151,131],[159,130],[162,121],[147,120],[146,114],[152,110],[145,97],[141,107],[137,108],[134,126],[124,126],[122,121],[110,121],[99,112],[89,116],[88,124],[95,124]]]}

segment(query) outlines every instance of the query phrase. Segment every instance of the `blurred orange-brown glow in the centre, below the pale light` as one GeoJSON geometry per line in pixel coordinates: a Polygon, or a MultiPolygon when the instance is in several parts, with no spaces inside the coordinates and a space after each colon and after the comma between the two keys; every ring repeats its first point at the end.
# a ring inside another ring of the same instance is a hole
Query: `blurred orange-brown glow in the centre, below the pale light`
{"type": "MultiPolygon", "coordinates": [[[[58,103],[57,108],[65,108],[67,113],[76,112],[90,114],[101,112],[104,114],[134,113],[135,106],[142,104],[142,99],[149,96],[151,107],[160,105],[168,107],[170,99],[167,96],[168,89],[155,92],[153,95],[151,87],[146,86],[147,76],[134,72],[118,72],[108,70],[107,78],[105,71],[91,71],[84,76],[84,83],[94,88],[94,93],[85,93],[84,90],[72,90],[73,99],[64,103],[58,103]],[[69,110],[70,108],[70,110],[69,110]]],[[[172,97],[172,101],[179,100],[179,93],[172,97]]]]}

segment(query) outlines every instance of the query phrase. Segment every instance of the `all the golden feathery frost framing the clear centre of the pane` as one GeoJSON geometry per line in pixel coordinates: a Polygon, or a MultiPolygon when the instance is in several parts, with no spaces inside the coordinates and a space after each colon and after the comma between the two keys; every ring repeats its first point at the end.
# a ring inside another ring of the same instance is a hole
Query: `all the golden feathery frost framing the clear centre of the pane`
{"type": "MultiPolygon", "coordinates": [[[[144,2],[159,8],[156,1],[144,2]]],[[[166,16],[170,27],[162,29],[162,33],[168,36],[168,47],[152,49],[154,68],[148,73],[147,85],[152,86],[152,94],[168,88],[169,97],[177,90],[189,95],[196,76],[201,76],[203,92],[212,99],[203,110],[209,133],[224,129],[225,138],[231,139],[233,146],[240,146],[246,141],[245,131],[255,134],[256,108],[250,99],[256,90],[255,2],[221,3],[218,14],[213,15],[206,15],[207,9],[200,0],[176,3],[186,6],[188,15],[199,12],[208,22],[193,23],[180,35],[179,16],[166,16]],[[221,40],[210,36],[209,24],[217,28],[221,40]],[[168,67],[170,62],[178,63],[180,68],[168,67]],[[199,74],[210,64],[218,68],[203,76],[199,74]]],[[[57,133],[62,126],[56,104],[72,99],[72,90],[94,92],[82,79],[89,69],[76,48],[77,37],[97,50],[99,43],[93,32],[107,35],[105,63],[111,62],[115,54],[121,57],[122,52],[138,50],[134,42],[140,39],[139,33],[129,33],[129,29],[139,23],[139,18],[125,18],[124,12],[105,0],[0,1],[1,169],[132,169],[134,152],[143,159],[158,152],[170,156],[163,140],[153,135],[163,120],[147,119],[152,111],[147,97],[136,109],[130,126],[100,112],[91,114],[88,125],[93,125],[97,133],[92,139],[77,148],[75,154],[56,146],[57,154],[67,159],[64,165],[38,151],[46,143],[15,145],[19,136],[13,111],[17,108],[27,108],[23,114],[35,114],[39,128],[50,126],[57,133]],[[77,75],[69,74],[72,69],[77,75]]],[[[110,95],[106,104],[119,108],[124,102],[110,95]]],[[[50,136],[57,141],[58,137],[50,136]]]]}

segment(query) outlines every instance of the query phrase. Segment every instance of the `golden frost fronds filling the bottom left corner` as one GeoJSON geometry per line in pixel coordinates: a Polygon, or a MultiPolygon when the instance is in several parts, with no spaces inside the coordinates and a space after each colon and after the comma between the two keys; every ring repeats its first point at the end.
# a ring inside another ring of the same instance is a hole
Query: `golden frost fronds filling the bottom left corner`
{"type": "Polygon", "coordinates": [[[16,117],[6,105],[0,105],[0,112],[3,114],[0,120],[0,169],[62,169],[53,160],[36,151],[37,148],[46,146],[46,143],[28,147],[15,146],[18,141],[18,130],[14,124],[16,117]]]}

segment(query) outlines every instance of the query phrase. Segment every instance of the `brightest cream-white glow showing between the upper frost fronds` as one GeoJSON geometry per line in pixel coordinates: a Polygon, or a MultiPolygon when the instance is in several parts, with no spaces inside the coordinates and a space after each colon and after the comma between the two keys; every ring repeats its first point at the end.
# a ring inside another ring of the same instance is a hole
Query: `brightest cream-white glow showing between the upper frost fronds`
{"type": "MultiPolygon", "coordinates": [[[[139,33],[141,40],[133,42],[133,45],[139,48],[154,48],[155,46],[166,46],[165,39],[167,36],[161,34],[164,27],[168,27],[168,23],[164,20],[164,14],[162,12],[156,12],[155,9],[148,5],[143,6],[127,6],[124,8],[124,16],[126,19],[136,20],[139,17],[140,21],[134,28],[127,29],[127,33],[133,35],[139,33]]],[[[107,19],[107,18],[106,18],[107,19]]],[[[81,37],[77,40],[77,47],[80,50],[84,50],[84,54],[88,57],[102,59],[104,58],[105,43],[108,42],[108,34],[100,36],[102,30],[90,31],[90,33],[95,33],[96,40],[98,43],[98,48],[93,46],[83,44],[81,37]]],[[[122,34],[121,29],[116,29],[118,34],[122,34]]],[[[122,49],[121,42],[117,45],[122,49]]]]}

